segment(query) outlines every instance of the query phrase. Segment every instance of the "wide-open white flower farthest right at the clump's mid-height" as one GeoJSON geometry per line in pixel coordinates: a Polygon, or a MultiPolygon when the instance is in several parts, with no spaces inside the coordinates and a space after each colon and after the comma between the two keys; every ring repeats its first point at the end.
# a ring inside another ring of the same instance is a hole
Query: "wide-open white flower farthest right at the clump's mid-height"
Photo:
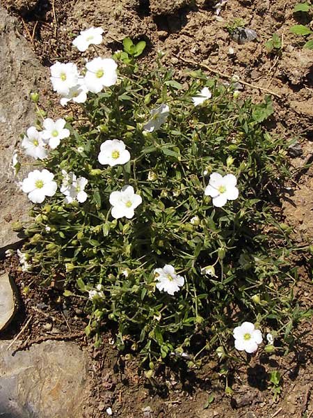
{"type": "Polygon", "coordinates": [[[218,173],[211,173],[209,185],[204,190],[206,196],[212,197],[212,203],[217,208],[225,205],[227,200],[235,200],[239,195],[236,188],[236,177],[233,174],[221,176],[218,173]]]}

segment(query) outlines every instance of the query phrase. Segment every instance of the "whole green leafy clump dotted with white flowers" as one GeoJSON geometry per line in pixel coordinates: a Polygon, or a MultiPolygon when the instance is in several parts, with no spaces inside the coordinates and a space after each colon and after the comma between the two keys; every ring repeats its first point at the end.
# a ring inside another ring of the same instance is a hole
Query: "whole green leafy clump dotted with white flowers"
{"type": "MultiPolygon", "coordinates": [[[[85,50],[92,39],[80,36],[85,50]]],[[[288,174],[288,144],[262,126],[271,100],[237,100],[232,84],[200,71],[181,84],[161,56],[150,71],[119,54],[51,67],[74,113],[27,131],[40,150],[22,144],[43,167],[22,183],[35,203],[23,265],[85,298],[97,345],[115,323],[118,348],[151,369],[178,352],[199,364],[195,334],[202,354],[220,346],[218,356],[234,350],[234,328],[248,353],[268,320],[287,338],[293,270],[268,202],[288,174]]]]}

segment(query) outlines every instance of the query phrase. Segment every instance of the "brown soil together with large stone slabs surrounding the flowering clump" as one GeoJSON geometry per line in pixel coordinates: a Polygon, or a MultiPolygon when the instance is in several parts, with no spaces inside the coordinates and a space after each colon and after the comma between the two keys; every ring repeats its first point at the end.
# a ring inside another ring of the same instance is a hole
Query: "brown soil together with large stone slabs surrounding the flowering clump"
{"type": "MultiPolygon", "coordinates": [[[[260,101],[271,91],[275,118],[271,130],[294,139],[290,150],[293,177],[282,197],[286,222],[294,226],[298,244],[313,242],[313,52],[303,49],[289,28],[305,23],[294,15],[296,0],[228,0],[214,15],[214,1],[191,0],[1,0],[0,3],[0,253],[17,246],[15,220],[27,217],[28,203],[19,193],[10,162],[19,134],[35,117],[29,100],[40,91],[50,116],[60,115],[49,86],[49,65],[57,60],[83,62],[88,52],[72,48],[81,29],[102,26],[102,53],[121,49],[129,36],[147,41],[141,61],[153,65],[158,50],[175,68],[206,65],[208,75],[219,72],[227,81],[238,75],[243,95],[260,101]],[[226,26],[243,20],[257,39],[239,45],[226,26]],[[265,42],[273,33],[282,40],[279,51],[269,53],[265,42]]],[[[26,171],[29,167],[26,167],[26,171]]],[[[32,286],[33,277],[20,274],[17,261],[5,261],[19,288],[21,300],[15,320],[1,334],[0,416],[4,417],[296,417],[313,416],[312,325],[289,355],[272,355],[268,362],[254,357],[250,366],[234,373],[232,396],[225,396],[216,361],[200,371],[177,372],[168,367],[159,380],[149,381],[132,359],[119,357],[104,335],[104,350],[96,350],[83,336],[81,307],[67,306],[58,289],[32,286]],[[18,351],[16,351],[19,348],[18,351]],[[265,390],[268,373],[282,373],[278,403],[265,390]],[[214,402],[204,408],[211,394],[214,402]]],[[[300,304],[310,307],[312,287],[300,269],[296,291],[300,304]]],[[[0,272],[3,274],[2,272],[0,272]]],[[[1,282],[1,280],[0,280],[1,282]]]]}

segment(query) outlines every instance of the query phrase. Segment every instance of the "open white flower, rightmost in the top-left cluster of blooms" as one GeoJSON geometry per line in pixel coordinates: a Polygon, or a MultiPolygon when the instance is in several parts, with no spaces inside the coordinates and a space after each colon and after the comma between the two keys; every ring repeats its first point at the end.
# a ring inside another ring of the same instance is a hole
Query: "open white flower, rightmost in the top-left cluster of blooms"
{"type": "Polygon", "coordinates": [[[113,86],[118,80],[117,63],[111,58],[97,57],[86,63],[85,84],[89,91],[99,93],[102,88],[113,86]]]}

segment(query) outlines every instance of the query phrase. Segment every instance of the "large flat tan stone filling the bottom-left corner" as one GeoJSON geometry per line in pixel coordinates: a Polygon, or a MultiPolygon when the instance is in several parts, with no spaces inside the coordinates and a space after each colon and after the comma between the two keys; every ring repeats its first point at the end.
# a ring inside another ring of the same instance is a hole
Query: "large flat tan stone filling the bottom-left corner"
{"type": "Polygon", "coordinates": [[[0,341],[0,415],[82,418],[87,356],[72,342],[45,341],[17,351],[0,341]]]}

